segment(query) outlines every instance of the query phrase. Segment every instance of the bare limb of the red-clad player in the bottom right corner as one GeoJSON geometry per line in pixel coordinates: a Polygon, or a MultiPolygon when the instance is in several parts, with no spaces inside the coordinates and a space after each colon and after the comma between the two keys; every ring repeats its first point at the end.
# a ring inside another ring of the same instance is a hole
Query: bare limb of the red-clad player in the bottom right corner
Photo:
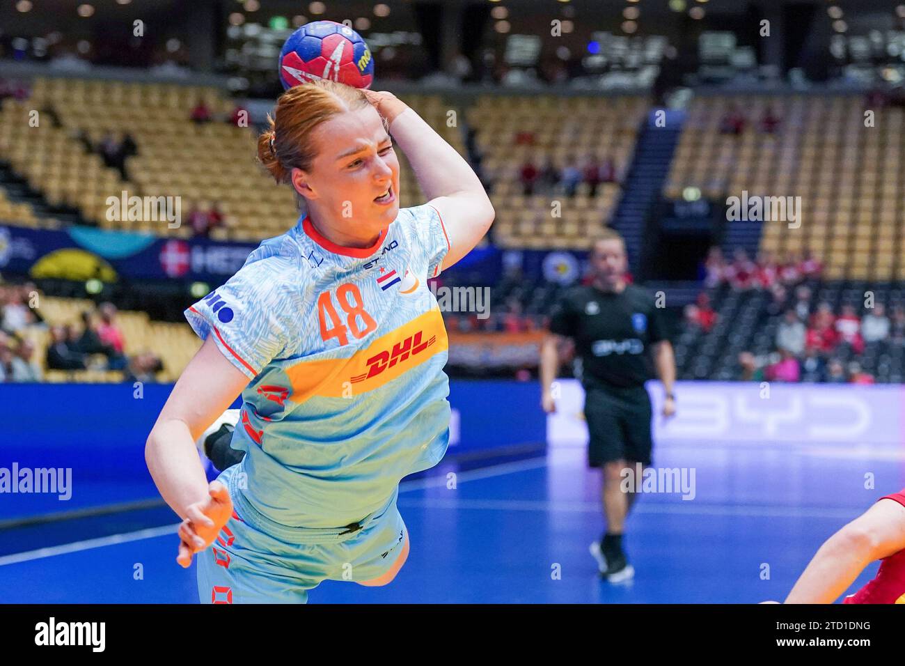
{"type": "Polygon", "coordinates": [[[833,603],[865,566],[903,548],[905,507],[881,499],[820,546],[786,603],[833,603]]]}

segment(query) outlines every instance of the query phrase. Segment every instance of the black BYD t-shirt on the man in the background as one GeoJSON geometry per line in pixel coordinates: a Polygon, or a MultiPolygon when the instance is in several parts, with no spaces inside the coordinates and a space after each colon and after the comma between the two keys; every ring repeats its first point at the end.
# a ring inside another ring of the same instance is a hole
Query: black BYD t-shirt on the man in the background
{"type": "Polygon", "coordinates": [[[586,389],[642,386],[653,378],[650,346],[666,339],[662,308],[636,285],[621,294],[592,285],[569,289],[550,313],[550,332],[575,340],[586,389]]]}

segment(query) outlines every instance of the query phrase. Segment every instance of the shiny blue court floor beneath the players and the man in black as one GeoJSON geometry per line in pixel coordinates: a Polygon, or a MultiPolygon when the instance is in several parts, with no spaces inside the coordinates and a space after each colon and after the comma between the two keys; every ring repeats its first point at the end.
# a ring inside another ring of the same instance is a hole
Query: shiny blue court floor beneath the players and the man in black
{"type": "MultiPolygon", "coordinates": [[[[640,498],[624,538],[635,578],[613,585],[588,555],[603,518],[599,475],[584,456],[583,448],[551,449],[546,458],[460,471],[454,488],[454,468],[443,465],[436,476],[404,481],[399,508],[411,554],[395,581],[327,582],[310,603],[781,601],[827,536],[905,486],[902,449],[661,442],[655,466],[693,468],[695,495],[640,498]]],[[[0,603],[196,603],[195,566],[175,562],[175,524],[174,516],[171,525],[25,552],[7,542],[0,603]]]]}

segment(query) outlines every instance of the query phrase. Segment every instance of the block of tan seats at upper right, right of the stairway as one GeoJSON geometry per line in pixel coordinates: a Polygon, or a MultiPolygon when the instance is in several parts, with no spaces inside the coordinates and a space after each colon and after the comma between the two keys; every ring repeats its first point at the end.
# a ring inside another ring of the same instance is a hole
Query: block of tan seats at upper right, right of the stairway
{"type": "Polygon", "coordinates": [[[750,195],[801,197],[800,228],[765,222],[760,249],[810,251],[831,280],[905,277],[901,155],[905,111],[883,108],[865,126],[859,95],[719,95],[696,98],[664,186],[667,198],[700,188],[714,200],[750,195]],[[770,108],[775,133],[759,130],[770,108]],[[731,110],[748,122],[720,133],[731,110]]]}

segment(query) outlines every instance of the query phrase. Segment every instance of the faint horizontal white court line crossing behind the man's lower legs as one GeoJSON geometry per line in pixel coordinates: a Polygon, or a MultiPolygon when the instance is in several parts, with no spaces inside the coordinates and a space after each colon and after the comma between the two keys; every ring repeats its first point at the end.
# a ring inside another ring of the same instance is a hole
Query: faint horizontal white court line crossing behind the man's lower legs
{"type": "MultiPolygon", "coordinates": [[[[542,511],[548,513],[594,513],[602,512],[597,502],[556,502],[543,499],[443,499],[424,497],[405,499],[403,507],[473,509],[481,511],[542,511]]],[[[633,511],[643,514],[676,514],[689,516],[758,516],[758,517],[807,517],[807,518],[852,518],[859,509],[824,509],[767,507],[733,504],[695,504],[693,500],[681,504],[639,503],[633,511]]]]}

